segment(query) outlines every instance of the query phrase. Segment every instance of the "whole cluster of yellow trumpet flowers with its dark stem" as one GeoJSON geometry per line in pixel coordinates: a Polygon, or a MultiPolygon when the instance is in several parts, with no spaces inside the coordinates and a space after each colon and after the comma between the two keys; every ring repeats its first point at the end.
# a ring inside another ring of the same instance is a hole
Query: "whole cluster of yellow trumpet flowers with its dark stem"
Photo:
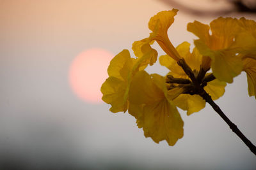
{"type": "Polygon", "coordinates": [[[191,115],[209,103],[256,155],[256,147],[213,101],[223,96],[226,83],[241,71],[247,74],[249,96],[256,97],[256,22],[220,17],[209,25],[189,23],[188,31],[198,36],[191,52],[188,42],[175,48],[168,37],[177,11],[161,11],[150,18],[148,38],[132,44],[136,57],[123,50],[111,60],[109,78],[101,87],[102,100],[111,104],[113,113],[128,110],[145,137],[156,143],[166,140],[170,146],[183,136],[184,122],[177,107],[191,115]],[[170,70],[166,76],[145,71],[157,61],[154,43],[166,53],[159,57],[170,70]]]}

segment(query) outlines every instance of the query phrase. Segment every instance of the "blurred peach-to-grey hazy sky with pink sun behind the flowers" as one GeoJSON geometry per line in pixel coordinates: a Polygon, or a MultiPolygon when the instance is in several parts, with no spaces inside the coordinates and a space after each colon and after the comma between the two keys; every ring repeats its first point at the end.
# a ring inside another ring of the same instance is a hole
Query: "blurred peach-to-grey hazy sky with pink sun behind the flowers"
{"type": "MultiPolygon", "coordinates": [[[[109,60],[132,52],[134,41],[148,37],[150,17],[172,8],[180,9],[168,31],[175,46],[193,46],[188,22],[256,19],[253,0],[1,0],[0,169],[255,169],[255,155],[208,104],[189,117],[180,110],[184,137],[168,146],[145,138],[134,117],[111,113],[100,101],[109,60]],[[106,60],[86,55],[92,49],[106,60]]],[[[168,72],[158,62],[147,71],[168,72]]],[[[246,74],[216,103],[256,144],[246,74]]]]}

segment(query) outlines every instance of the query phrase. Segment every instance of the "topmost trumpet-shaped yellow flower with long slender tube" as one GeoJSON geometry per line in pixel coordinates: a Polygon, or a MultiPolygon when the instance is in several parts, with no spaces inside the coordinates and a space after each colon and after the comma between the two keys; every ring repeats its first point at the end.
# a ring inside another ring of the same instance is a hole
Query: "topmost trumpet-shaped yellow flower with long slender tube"
{"type": "MultiPolygon", "coordinates": [[[[151,43],[154,43],[154,40],[156,40],[161,48],[163,48],[164,52],[170,55],[170,57],[177,61],[180,59],[179,53],[177,53],[175,50],[167,34],[170,25],[172,25],[174,21],[174,16],[177,14],[177,11],[178,10],[176,9],[170,11],[161,11],[154,17],[150,18],[150,21],[148,22],[148,28],[152,31],[150,36],[140,41],[135,41],[132,44],[132,50],[134,50],[134,54],[137,57],[140,57],[143,55],[143,53],[147,52],[147,50],[142,52],[143,50],[141,50],[141,48],[143,45],[150,45],[151,43]]],[[[156,62],[156,59],[156,57],[152,57],[152,62],[150,62],[150,65],[156,62]]]]}

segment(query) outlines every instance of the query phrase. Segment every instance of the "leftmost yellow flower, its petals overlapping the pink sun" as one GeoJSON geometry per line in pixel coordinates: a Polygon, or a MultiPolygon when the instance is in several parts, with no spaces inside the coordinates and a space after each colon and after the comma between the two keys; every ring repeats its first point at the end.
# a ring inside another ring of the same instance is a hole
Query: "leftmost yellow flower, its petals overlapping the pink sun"
{"type": "Polygon", "coordinates": [[[116,113],[127,110],[132,76],[139,70],[145,69],[150,62],[152,53],[157,55],[156,50],[150,48],[140,58],[133,59],[128,50],[123,50],[111,60],[108,67],[109,78],[100,89],[103,94],[102,100],[112,106],[110,111],[116,113]]]}

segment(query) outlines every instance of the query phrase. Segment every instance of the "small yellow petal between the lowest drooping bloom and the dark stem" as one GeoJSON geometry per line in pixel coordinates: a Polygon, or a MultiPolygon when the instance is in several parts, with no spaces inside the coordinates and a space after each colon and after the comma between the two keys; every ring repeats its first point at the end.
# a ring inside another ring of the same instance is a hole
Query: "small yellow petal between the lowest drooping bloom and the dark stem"
{"type": "Polygon", "coordinates": [[[204,99],[198,95],[180,94],[173,100],[173,103],[180,109],[187,110],[187,115],[191,115],[205,107],[204,99]]]}

